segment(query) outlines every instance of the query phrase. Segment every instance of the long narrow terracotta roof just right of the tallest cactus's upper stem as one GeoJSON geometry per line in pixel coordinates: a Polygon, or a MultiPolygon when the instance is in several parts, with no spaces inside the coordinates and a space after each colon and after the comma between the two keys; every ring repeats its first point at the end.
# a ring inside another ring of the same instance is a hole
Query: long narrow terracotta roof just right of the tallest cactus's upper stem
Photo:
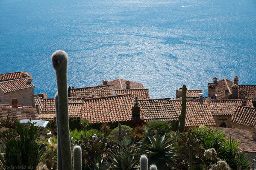
{"type": "Polygon", "coordinates": [[[103,85],[86,88],[71,88],[71,97],[103,97],[112,95],[113,85],[103,85]]]}

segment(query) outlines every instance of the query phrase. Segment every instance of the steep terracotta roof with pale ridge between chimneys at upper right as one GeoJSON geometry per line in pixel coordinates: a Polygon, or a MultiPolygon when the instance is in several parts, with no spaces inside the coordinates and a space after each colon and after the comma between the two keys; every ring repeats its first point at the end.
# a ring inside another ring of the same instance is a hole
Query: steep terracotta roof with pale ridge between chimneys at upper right
{"type": "Polygon", "coordinates": [[[228,79],[221,79],[218,81],[218,85],[216,85],[215,88],[215,93],[216,93],[216,98],[219,99],[225,99],[225,90],[229,90],[229,94],[231,94],[231,86],[233,85],[233,82],[231,82],[228,79]]]}

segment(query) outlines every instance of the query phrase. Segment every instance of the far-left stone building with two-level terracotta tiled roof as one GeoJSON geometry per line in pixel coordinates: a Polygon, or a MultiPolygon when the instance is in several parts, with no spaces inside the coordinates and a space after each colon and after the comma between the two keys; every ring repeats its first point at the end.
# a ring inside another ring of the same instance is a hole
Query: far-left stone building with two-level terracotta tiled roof
{"type": "Polygon", "coordinates": [[[11,105],[17,99],[19,105],[35,106],[32,80],[26,72],[0,74],[0,103],[11,105]]]}

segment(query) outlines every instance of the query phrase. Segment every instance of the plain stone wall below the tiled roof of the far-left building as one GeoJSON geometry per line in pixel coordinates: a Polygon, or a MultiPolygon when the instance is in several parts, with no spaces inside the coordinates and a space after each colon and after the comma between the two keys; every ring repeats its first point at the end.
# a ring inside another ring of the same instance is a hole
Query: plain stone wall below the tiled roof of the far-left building
{"type": "Polygon", "coordinates": [[[15,91],[8,94],[1,94],[0,101],[6,105],[12,105],[12,99],[18,99],[18,105],[35,106],[34,88],[29,88],[21,91],[15,91]]]}

